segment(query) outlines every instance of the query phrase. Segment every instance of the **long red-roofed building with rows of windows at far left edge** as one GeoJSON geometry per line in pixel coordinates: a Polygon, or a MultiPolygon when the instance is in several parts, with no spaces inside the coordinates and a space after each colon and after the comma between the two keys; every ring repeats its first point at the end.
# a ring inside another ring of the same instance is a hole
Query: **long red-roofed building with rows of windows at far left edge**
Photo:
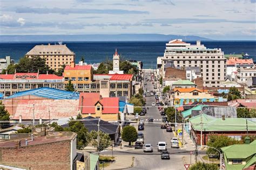
{"type": "Polygon", "coordinates": [[[3,97],[41,87],[64,89],[64,79],[62,76],[56,76],[55,74],[0,74],[0,93],[3,94],[3,97]]]}

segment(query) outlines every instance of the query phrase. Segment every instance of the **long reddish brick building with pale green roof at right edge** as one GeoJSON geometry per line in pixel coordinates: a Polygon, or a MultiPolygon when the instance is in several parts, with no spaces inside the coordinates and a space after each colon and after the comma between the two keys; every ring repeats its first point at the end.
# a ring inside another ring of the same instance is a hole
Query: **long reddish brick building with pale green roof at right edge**
{"type": "Polygon", "coordinates": [[[256,123],[245,118],[214,118],[211,115],[201,114],[188,120],[191,137],[198,145],[207,145],[208,136],[212,134],[226,135],[238,140],[243,135],[256,135],[256,123]],[[200,144],[201,139],[202,144],[200,144]]]}

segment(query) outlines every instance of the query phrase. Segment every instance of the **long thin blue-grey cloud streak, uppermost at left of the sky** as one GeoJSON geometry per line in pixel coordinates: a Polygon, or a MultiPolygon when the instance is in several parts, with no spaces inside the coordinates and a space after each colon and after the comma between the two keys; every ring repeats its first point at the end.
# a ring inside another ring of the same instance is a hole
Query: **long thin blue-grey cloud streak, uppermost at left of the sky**
{"type": "Polygon", "coordinates": [[[70,13],[101,13],[101,14],[148,14],[147,11],[134,11],[123,9],[62,9],[62,8],[17,8],[17,13],[60,13],[68,15],[70,13]]]}

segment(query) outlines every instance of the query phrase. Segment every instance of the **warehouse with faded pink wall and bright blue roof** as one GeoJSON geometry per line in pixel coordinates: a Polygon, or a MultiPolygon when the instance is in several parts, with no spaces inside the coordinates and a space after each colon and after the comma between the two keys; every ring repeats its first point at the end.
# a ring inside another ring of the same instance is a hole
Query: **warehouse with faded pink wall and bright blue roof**
{"type": "Polygon", "coordinates": [[[12,120],[50,120],[76,116],[79,94],[42,87],[18,92],[3,100],[12,120]]]}

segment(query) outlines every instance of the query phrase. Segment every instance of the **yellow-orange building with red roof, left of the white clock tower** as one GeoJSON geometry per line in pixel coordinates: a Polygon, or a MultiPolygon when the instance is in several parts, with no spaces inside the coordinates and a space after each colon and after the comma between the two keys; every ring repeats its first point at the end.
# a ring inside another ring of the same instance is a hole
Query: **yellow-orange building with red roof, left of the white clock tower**
{"type": "Polygon", "coordinates": [[[72,62],[70,66],[67,65],[65,67],[63,76],[65,85],[71,80],[78,92],[89,92],[90,89],[99,89],[99,83],[98,85],[97,83],[92,85],[93,69],[91,65],[75,65],[72,62]]]}

